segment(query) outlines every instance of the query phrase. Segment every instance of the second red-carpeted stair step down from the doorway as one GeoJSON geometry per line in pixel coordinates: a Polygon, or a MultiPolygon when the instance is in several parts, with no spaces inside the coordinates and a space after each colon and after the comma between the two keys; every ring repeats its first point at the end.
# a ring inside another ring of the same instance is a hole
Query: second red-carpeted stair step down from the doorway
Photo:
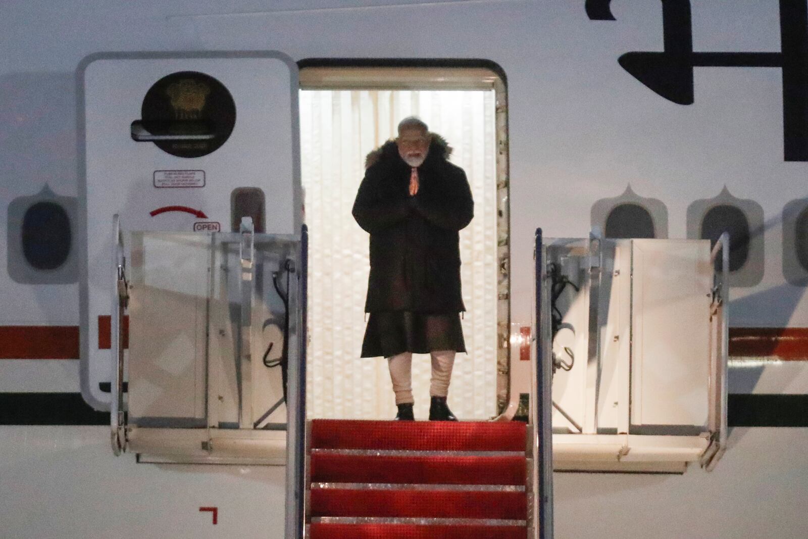
{"type": "Polygon", "coordinates": [[[389,457],[314,453],[312,482],[421,485],[524,485],[524,455],[389,457]]]}

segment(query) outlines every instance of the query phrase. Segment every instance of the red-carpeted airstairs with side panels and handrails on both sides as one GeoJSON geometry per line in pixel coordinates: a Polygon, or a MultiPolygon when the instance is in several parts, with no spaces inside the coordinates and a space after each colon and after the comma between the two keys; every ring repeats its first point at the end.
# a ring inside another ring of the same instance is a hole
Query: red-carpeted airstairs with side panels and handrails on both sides
{"type": "Polygon", "coordinates": [[[286,539],[552,539],[553,465],[683,473],[726,450],[726,235],[711,248],[538,230],[528,368],[511,373],[527,423],[309,420],[305,227],[257,234],[245,217],[238,233],[125,236],[128,251],[116,218],[113,451],[285,464],[286,539]],[[664,393],[671,373],[687,376],[664,393]]]}

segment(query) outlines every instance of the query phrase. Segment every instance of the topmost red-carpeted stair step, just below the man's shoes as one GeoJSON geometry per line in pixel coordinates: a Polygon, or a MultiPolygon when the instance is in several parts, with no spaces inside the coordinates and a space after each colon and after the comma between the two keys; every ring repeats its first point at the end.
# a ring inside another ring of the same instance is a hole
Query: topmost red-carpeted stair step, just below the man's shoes
{"type": "Polygon", "coordinates": [[[313,449],[516,451],[526,448],[525,424],[476,421],[314,419],[313,449]]]}

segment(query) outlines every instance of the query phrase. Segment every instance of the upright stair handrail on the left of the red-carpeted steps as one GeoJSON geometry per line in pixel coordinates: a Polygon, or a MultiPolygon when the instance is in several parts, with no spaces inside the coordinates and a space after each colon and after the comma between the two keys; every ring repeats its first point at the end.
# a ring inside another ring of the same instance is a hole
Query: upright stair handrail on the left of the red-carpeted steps
{"type": "MultiPolygon", "coordinates": [[[[297,299],[300,308],[296,311],[297,339],[289,343],[292,352],[288,354],[288,387],[286,398],[286,520],[285,539],[303,539],[305,532],[305,457],[306,457],[306,297],[309,268],[309,230],[301,227],[300,271],[297,274],[297,299]],[[297,347],[297,354],[294,348],[297,347]]],[[[289,302],[292,305],[292,302],[289,302]]],[[[288,313],[292,316],[292,313],[288,313]]],[[[287,339],[290,335],[287,335],[287,339]]]]}

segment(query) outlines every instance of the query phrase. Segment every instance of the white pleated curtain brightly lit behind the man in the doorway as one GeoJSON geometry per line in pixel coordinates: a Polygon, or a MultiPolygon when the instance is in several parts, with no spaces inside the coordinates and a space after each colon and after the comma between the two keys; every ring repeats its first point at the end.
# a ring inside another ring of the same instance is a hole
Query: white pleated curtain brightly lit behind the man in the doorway
{"type": "MultiPolygon", "coordinates": [[[[462,320],[448,402],[461,419],[488,419],[496,385],[496,145],[494,91],[301,91],[301,177],[309,225],[309,418],[392,419],[383,358],[360,358],[368,234],[351,216],[364,158],[419,116],[454,149],[474,198],[461,230],[462,320]]],[[[426,419],[431,364],[413,357],[416,419],[426,419]]]]}

